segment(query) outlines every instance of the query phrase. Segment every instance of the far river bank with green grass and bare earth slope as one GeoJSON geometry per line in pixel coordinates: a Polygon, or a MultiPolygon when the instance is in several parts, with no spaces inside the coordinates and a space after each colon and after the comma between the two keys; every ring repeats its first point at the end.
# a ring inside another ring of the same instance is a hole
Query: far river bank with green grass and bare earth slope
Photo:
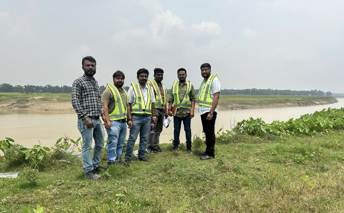
{"type": "MultiPolygon", "coordinates": [[[[311,106],[338,102],[332,96],[220,96],[218,108],[259,109],[311,106]]],[[[196,104],[197,108],[197,104],[196,104]]],[[[69,93],[0,93],[0,109],[74,112],[69,93]]]]}

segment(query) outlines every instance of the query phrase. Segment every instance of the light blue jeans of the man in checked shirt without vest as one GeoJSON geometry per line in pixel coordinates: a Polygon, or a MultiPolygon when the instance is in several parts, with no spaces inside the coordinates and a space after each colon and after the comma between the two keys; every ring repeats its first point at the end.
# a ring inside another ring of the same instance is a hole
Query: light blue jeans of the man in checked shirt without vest
{"type": "Polygon", "coordinates": [[[85,172],[92,171],[94,168],[100,166],[101,149],[104,147],[104,127],[100,119],[92,119],[94,127],[87,128],[82,119],[78,119],[78,130],[83,138],[83,145],[81,147],[81,154],[84,162],[85,172]],[[94,149],[92,161],[90,152],[92,149],[92,137],[94,138],[94,149]]]}

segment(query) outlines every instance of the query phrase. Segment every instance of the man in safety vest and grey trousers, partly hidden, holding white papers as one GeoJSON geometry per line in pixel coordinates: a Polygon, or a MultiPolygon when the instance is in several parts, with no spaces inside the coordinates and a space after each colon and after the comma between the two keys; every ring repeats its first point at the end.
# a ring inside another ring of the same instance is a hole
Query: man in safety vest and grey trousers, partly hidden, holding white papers
{"type": "Polygon", "coordinates": [[[168,117],[167,107],[166,107],[166,87],[162,83],[164,79],[164,70],[161,68],[154,69],[154,79],[149,80],[148,85],[153,88],[155,95],[155,116],[157,117],[157,122],[154,125],[154,133],[149,133],[147,152],[154,155],[155,152],[163,153],[159,146],[160,133],[162,132],[164,117],[168,117]]]}

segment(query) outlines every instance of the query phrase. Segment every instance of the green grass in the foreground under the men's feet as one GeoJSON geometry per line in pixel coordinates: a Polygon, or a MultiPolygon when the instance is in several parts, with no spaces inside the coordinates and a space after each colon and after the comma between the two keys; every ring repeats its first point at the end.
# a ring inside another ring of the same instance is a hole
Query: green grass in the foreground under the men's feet
{"type": "MultiPolygon", "coordinates": [[[[344,131],[236,135],[206,161],[197,155],[204,145],[187,154],[184,145],[173,153],[172,144],[161,144],[166,152],[147,154],[149,162],[112,166],[111,177],[94,181],[84,179],[81,165],[50,158],[35,184],[21,174],[0,179],[0,212],[29,205],[46,212],[341,212],[343,140],[344,131]]],[[[1,172],[25,168],[0,162],[1,172]]]]}

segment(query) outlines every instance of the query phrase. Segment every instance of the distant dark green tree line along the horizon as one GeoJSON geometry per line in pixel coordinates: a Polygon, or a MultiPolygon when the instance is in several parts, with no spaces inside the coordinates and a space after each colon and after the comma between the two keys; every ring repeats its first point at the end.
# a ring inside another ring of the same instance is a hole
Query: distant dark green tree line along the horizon
{"type": "MultiPolygon", "coordinates": [[[[127,91],[129,87],[124,87],[127,91]]],[[[105,90],[105,86],[100,86],[100,92],[105,90]]],[[[170,94],[170,89],[167,89],[167,94],[170,94]]],[[[196,94],[198,89],[195,89],[196,94]]],[[[0,85],[0,92],[51,92],[51,93],[71,93],[71,86],[34,86],[34,85],[15,85],[9,83],[2,83],[0,85]]],[[[290,95],[290,96],[331,96],[332,92],[323,92],[321,90],[278,90],[278,89],[222,89],[222,95],[290,95]]]]}

